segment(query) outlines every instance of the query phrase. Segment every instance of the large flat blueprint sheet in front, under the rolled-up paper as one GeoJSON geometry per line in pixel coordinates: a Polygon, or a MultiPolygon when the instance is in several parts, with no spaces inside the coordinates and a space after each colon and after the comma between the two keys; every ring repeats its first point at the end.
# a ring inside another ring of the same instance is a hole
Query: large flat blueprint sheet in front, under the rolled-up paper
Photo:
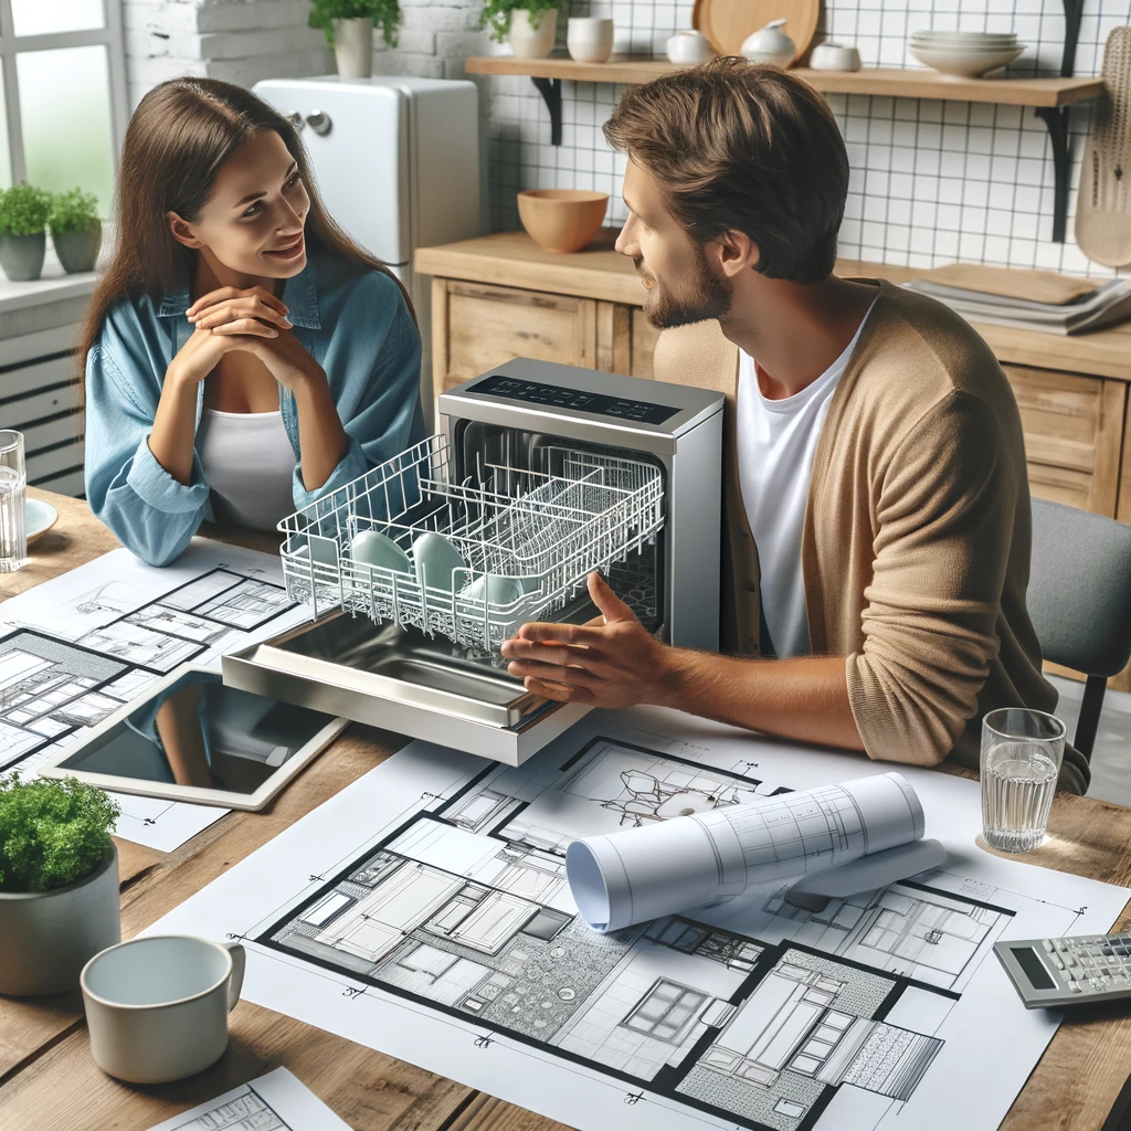
{"type": "Polygon", "coordinates": [[[570,895],[580,837],[875,770],[659,708],[518,768],[417,742],[150,931],[239,939],[249,1000],[581,1131],[990,1131],[1059,1024],[994,942],[1105,931],[1128,891],[983,853],[975,783],[901,768],[948,863],[875,891],[607,933],[570,895]]]}

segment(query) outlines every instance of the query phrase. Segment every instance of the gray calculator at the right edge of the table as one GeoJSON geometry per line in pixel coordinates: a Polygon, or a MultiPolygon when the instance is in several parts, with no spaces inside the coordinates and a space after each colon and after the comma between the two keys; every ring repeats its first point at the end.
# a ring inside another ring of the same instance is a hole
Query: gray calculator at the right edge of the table
{"type": "Polygon", "coordinates": [[[1027,1009],[1131,998],[1131,934],[996,942],[1027,1009]]]}

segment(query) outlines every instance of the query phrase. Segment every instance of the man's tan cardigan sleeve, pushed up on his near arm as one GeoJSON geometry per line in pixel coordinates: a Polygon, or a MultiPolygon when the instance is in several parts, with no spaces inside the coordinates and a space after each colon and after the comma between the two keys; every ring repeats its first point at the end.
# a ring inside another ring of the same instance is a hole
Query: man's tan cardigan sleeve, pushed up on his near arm
{"type": "Polygon", "coordinates": [[[853,716],[872,758],[936,765],[977,713],[1000,648],[1019,495],[1013,464],[991,407],[956,391],[883,473],[864,644],[846,661],[853,716]]]}

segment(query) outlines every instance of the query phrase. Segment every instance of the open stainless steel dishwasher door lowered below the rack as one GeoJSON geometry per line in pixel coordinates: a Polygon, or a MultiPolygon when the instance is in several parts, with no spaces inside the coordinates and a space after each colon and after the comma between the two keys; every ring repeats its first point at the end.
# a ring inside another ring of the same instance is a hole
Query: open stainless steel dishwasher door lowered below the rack
{"type": "Polygon", "coordinates": [[[449,640],[343,613],[224,656],[222,664],[230,687],[509,766],[589,710],[539,699],[449,640]]]}

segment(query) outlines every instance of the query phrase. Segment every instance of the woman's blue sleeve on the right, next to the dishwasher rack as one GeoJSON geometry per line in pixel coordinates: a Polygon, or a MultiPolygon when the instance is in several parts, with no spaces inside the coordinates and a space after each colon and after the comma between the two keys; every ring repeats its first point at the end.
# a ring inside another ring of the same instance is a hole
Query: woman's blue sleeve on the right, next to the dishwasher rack
{"type": "Polygon", "coordinates": [[[301,510],[424,439],[421,406],[421,337],[399,290],[396,311],[379,343],[356,411],[342,426],[349,440],[329,478],[313,491],[294,469],[294,503],[301,510]]]}

